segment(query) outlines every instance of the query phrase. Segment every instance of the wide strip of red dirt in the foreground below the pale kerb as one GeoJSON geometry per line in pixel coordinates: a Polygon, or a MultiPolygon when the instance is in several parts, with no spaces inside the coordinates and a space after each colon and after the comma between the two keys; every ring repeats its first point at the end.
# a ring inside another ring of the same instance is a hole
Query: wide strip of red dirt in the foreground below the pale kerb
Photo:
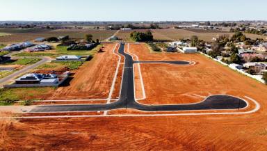
{"type": "Polygon", "coordinates": [[[0,150],[266,150],[267,123],[254,118],[1,120],[0,150]]]}

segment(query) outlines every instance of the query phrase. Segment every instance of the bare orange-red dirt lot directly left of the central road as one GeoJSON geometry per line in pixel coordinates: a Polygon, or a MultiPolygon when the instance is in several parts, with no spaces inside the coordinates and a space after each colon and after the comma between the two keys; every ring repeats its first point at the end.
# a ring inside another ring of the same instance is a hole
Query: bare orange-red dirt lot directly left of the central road
{"type": "Polygon", "coordinates": [[[114,47],[115,44],[105,44],[105,52],[84,63],[74,74],[70,86],[58,88],[48,100],[106,99],[118,63],[114,47]]]}

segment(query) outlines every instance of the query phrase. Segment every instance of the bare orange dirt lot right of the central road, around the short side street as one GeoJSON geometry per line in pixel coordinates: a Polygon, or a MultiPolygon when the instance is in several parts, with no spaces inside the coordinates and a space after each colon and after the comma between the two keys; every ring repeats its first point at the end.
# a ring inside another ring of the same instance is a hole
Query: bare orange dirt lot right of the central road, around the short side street
{"type": "MultiPolygon", "coordinates": [[[[145,93],[144,104],[200,102],[208,95],[267,98],[267,86],[259,84],[201,54],[150,54],[146,45],[130,45],[140,61],[195,61],[196,65],[141,64],[145,93]],[[244,88],[244,90],[240,90],[244,88]],[[260,91],[259,91],[260,88],[260,91]],[[255,95],[257,94],[257,95],[255,95]]],[[[138,88],[138,87],[137,87],[138,88]]]]}

